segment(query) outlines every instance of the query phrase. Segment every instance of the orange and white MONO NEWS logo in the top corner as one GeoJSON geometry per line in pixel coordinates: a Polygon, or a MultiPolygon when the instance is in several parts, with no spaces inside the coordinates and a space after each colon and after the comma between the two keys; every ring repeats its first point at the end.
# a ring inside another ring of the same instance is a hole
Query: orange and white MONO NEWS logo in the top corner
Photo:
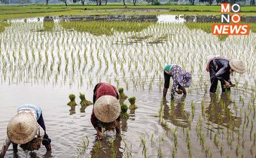
{"type": "Polygon", "coordinates": [[[248,35],[248,24],[241,24],[240,5],[221,3],[221,24],[212,24],[213,35],[248,35]]]}

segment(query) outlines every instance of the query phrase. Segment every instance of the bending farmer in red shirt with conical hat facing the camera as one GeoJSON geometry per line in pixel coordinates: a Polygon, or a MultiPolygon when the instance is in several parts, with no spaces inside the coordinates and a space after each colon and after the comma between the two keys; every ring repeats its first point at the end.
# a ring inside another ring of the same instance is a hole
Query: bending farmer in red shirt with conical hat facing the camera
{"type": "Polygon", "coordinates": [[[102,127],[105,130],[116,130],[120,133],[120,104],[116,87],[111,84],[96,84],[93,90],[93,112],[90,117],[97,131],[98,139],[102,139],[102,127]]]}

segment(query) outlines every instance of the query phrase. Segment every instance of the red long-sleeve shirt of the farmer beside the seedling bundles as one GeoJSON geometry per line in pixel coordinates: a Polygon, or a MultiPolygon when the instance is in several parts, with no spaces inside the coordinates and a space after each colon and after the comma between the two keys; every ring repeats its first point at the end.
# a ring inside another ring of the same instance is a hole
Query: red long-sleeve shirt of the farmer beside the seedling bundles
{"type": "MultiPolygon", "coordinates": [[[[96,84],[96,86],[94,87],[93,90],[93,105],[96,102],[97,99],[99,99],[99,97],[101,96],[114,96],[117,99],[119,99],[119,95],[117,92],[117,88],[112,86],[111,84],[106,84],[106,83],[99,83],[96,84]]],[[[118,117],[117,120],[120,120],[120,118],[118,117]]],[[[92,111],[92,115],[90,117],[90,121],[93,124],[93,127],[96,128],[98,126],[97,124],[97,117],[95,116],[94,112],[92,111]]]]}

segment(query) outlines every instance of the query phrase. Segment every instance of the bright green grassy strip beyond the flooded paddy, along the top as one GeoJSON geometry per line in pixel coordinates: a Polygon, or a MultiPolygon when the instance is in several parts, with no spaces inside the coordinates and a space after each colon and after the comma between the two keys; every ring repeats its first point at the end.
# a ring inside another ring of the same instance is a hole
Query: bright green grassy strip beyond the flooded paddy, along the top
{"type": "MultiPolygon", "coordinates": [[[[220,14],[220,6],[209,5],[29,5],[0,6],[0,19],[23,17],[44,17],[57,15],[95,15],[95,14],[220,14]],[[84,10],[87,8],[87,10],[84,10]]],[[[256,7],[242,6],[241,14],[256,15],[256,7]]]]}

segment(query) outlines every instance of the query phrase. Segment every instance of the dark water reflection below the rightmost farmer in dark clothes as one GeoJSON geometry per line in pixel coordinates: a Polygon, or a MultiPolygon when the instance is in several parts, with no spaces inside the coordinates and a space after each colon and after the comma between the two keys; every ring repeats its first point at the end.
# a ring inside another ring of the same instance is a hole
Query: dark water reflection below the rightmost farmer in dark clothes
{"type": "Polygon", "coordinates": [[[210,94],[211,103],[206,108],[206,117],[212,123],[225,126],[232,131],[239,129],[242,124],[241,117],[237,117],[229,108],[231,105],[230,96],[227,93],[221,93],[221,99],[218,100],[215,93],[210,94]]]}

